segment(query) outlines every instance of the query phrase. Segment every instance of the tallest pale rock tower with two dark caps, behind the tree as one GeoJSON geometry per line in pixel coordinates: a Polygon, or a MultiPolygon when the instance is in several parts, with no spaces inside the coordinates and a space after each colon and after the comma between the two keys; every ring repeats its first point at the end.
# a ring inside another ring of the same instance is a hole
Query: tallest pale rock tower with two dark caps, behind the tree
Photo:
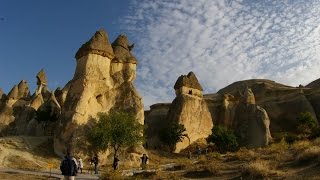
{"type": "Polygon", "coordinates": [[[75,146],[77,128],[98,112],[123,110],[143,124],[142,99],[133,86],[137,62],[129,47],[124,35],[111,46],[106,32],[99,30],[78,50],[74,77],[58,98],[62,103],[62,125],[54,140],[56,153],[75,146]]]}

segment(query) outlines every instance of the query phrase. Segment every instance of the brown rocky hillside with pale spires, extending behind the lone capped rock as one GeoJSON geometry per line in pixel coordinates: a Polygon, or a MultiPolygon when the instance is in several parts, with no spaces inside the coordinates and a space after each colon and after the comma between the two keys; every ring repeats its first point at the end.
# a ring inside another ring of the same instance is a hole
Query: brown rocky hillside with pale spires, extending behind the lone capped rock
{"type": "MultiPolygon", "coordinates": [[[[301,112],[310,112],[319,120],[318,81],[306,87],[291,87],[267,79],[244,80],[232,83],[217,93],[205,94],[203,98],[213,124],[235,129],[242,134],[243,145],[261,146],[267,144],[275,132],[295,132],[301,112]]],[[[146,124],[167,122],[165,117],[169,108],[170,103],[152,105],[147,112],[146,124]]]]}

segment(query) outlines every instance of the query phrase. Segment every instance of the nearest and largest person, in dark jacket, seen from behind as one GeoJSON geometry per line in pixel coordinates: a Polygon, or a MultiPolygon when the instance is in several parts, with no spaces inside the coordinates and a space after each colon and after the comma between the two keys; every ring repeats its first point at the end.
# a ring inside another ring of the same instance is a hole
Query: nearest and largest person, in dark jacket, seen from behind
{"type": "Polygon", "coordinates": [[[74,176],[77,175],[77,164],[73,160],[70,152],[61,161],[60,170],[65,180],[74,180],[74,176]]]}

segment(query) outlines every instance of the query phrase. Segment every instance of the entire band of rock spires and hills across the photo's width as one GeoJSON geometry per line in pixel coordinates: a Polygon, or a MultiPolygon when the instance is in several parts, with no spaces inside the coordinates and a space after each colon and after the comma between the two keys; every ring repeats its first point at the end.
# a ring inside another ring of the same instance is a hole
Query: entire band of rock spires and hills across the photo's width
{"type": "Polygon", "coordinates": [[[42,136],[36,113],[49,110],[59,116],[51,132],[55,152],[62,154],[70,146],[81,147],[83,127],[98,112],[122,110],[147,124],[148,148],[161,148],[160,130],[171,122],[183,124],[188,138],[176,144],[175,151],[180,152],[207,138],[216,124],[234,129],[242,146],[260,147],[268,145],[274,132],[294,132],[301,112],[320,118],[319,80],[306,87],[246,80],[204,95],[193,72],[177,79],[172,103],[155,104],[144,112],[133,85],[137,66],[133,47],[125,35],[111,44],[106,32],[99,30],[77,51],[76,71],[62,89],[50,92],[43,70],[36,76],[38,87],[33,95],[24,80],[8,95],[0,89],[0,135],[42,136]]]}

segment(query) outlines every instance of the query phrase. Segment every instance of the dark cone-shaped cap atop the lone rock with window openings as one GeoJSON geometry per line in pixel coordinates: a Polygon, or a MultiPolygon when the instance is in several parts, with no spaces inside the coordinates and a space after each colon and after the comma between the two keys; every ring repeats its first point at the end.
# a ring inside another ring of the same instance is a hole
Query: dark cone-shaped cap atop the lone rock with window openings
{"type": "Polygon", "coordinates": [[[200,85],[196,75],[192,71],[189,72],[188,75],[181,75],[178,78],[176,84],[174,85],[174,89],[179,89],[182,86],[203,91],[202,86],[200,85]]]}

